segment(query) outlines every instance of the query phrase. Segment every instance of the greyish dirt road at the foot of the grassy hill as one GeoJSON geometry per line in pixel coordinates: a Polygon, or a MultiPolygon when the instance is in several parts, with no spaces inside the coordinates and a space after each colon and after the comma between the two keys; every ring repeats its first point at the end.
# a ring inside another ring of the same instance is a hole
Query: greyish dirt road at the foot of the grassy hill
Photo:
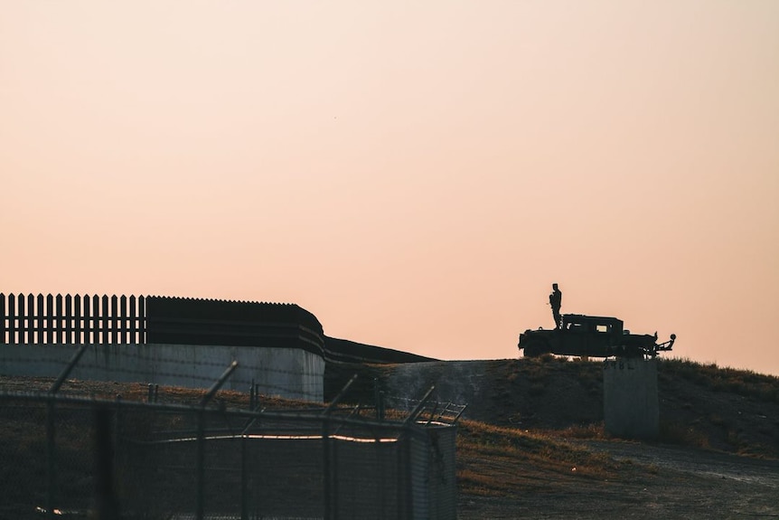
{"type": "Polygon", "coordinates": [[[587,446],[634,469],[616,482],[559,477],[543,491],[464,496],[458,517],[779,518],[779,461],[632,442],[587,446]]]}

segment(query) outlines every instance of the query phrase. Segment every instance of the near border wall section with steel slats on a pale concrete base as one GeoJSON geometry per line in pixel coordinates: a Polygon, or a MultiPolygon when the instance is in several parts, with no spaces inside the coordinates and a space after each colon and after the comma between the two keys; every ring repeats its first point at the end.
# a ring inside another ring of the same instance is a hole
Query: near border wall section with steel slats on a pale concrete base
{"type": "Polygon", "coordinates": [[[324,331],[294,304],[193,298],[0,293],[0,374],[208,388],[324,399],[324,331]],[[5,345],[4,345],[5,344],[5,345]]]}

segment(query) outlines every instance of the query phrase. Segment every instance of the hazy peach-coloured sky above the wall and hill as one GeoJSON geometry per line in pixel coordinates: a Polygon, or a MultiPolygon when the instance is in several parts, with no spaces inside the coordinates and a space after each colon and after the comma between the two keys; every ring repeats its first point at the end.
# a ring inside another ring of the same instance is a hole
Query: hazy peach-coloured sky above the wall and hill
{"type": "Polygon", "coordinates": [[[294,302],[518,355],[563,312],[779,374],[779,2],[0,4],[0,291],[294,302]]]}

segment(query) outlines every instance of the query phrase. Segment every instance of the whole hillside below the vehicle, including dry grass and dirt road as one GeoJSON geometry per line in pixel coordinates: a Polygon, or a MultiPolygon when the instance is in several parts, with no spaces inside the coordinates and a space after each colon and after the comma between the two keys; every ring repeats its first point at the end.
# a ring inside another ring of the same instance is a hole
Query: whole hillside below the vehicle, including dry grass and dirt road
{"type": "Polygon", "coordinates": [[[658,367],[661,435],[609,439],[603,365],[536,359],[328,366],[344,401],[467,403],[457,440],[458,518],[779,516],[779,378],[680,360],[658,367]]]}

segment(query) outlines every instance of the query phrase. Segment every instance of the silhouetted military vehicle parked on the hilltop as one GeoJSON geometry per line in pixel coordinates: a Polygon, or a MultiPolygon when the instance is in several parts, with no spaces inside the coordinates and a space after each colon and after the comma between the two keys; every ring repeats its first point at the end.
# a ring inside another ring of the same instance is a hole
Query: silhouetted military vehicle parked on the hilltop
{"type": "Polygon", "coordinates": [[[676,335],[657,343],[657,333],[631,334],[615,317],[564,314],[557,329],[526,330],[520,335],[519,349],[525,357],[543,354],[589,357],[654,357],[671,350],[676,335]]]}

